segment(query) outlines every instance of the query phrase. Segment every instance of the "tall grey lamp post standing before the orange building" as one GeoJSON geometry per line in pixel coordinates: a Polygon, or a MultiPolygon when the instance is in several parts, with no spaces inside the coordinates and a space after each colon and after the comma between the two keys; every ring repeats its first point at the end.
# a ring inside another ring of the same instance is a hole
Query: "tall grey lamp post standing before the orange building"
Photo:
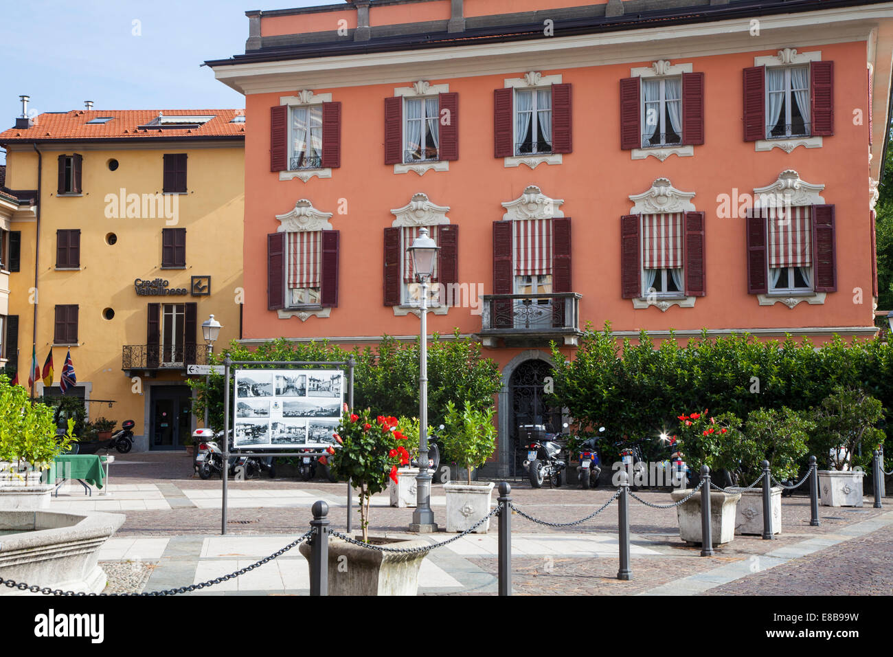
{"type": "Polygon", "coordinates": [[[409,248],[413,257],[413,272],[421,281],[421,354],[419,358],[419,474],[415,477],[415,510],[409,531],[429,533],[438,530],[431,511],[431,476],[428,472],[428,280],[434,271],[438,246],[424,226],[409,248]]]}

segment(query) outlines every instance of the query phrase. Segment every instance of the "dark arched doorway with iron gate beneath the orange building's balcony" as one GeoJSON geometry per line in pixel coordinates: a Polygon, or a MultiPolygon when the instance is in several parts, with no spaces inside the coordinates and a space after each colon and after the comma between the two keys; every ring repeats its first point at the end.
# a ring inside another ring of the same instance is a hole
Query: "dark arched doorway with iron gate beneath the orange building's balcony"
{"type": "Polygon", "coordinates": [[[547,432],[561,429],[561,409],[547,405],[544,388],[547,377],[552,375],[552,366],[547,361],[532,358],[516,366],[509,378],[508,408],[511,416],[508,435],[511,438],[511,476],[522,476],[522,462],[526,451],[519,449],[519,427],[522,425],[545,425],[547,432]]]}

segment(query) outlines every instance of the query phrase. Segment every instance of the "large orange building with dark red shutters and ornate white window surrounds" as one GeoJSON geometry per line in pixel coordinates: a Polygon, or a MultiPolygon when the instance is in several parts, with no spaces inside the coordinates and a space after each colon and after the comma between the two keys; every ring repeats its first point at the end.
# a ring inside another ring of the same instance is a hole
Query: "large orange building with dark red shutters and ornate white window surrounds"
{"type": "Polygon", "coordinates": [[[893,4],[355,0],[249,12],[243,338],[499,364],[500,474],[581,330],[870,336],[893,4]]]}

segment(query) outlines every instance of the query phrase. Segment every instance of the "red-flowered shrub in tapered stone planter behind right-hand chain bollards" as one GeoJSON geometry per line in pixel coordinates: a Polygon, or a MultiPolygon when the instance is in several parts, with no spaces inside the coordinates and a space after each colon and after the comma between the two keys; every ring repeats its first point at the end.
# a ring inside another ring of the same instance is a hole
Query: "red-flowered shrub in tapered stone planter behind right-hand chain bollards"
{"type": "MultiPolygon", "coordinates": [[[[689,467],[700,470],[710,467],[711,478],[735,469],[737,445],[741,442],[741,420],[732,413],[710,417],[703,413],[679,416],[680,449],[685,452],[689,467]]],[[[722,481],[722,479],[721,479],[722,481]]],[[[722,483],[717,483],[722,485],[722,483]]],[[[691,491],[673,491],[672,501],[684,500],[691,491]]],[[[735,514],[741,493],[710,492],[711,536],[714,545],[730,543],[735,537],[735,514]]],[[[702,543],[701,493],[676,507],[680,538],[686,543],[702,543]]]]}

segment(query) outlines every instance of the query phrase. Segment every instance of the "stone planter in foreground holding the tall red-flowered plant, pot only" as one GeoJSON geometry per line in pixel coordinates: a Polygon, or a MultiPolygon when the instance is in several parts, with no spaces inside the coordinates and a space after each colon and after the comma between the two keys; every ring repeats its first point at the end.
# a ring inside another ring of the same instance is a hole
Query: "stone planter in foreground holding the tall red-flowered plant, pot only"
{"type": "MultiPolygon", "coordinates": [[[[354,535],[360,540],[362,535],[354,535]]],[[[370,536],[372,544],[383,547],[431,547],[426,541],[370,536]]],[[[298,550],[310,567],[310,545],[301,543],[298,550]]],[[[415,595],[419,589],[421,561],[429,550],[413,554],[379,552],[329,537],[330,595],[415,595]]]]}

